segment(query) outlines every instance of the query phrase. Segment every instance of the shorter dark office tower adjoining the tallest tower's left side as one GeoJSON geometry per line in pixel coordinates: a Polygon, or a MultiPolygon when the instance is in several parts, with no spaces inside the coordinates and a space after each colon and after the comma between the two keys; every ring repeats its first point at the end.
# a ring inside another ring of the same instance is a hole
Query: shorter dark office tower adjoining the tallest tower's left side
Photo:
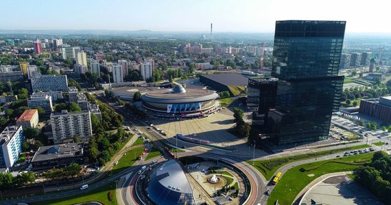
{"type": "Polygon", "coordinates": [[[278,82],[274,77],[248,79],[247,107],[253,126],[266,126],[269,110],[276,107],[278,82]]]}

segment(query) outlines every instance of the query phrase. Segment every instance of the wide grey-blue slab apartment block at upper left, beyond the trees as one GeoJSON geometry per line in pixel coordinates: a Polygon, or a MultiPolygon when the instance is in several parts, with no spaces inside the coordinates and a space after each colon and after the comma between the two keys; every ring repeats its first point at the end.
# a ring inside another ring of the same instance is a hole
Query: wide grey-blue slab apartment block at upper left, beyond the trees
{"type": "Polygon", "coordinates": [[[32,90],[49,91],[49,90],[68,90],[67,75],[44,74],[40,77],[33,77],[32,90]]]}

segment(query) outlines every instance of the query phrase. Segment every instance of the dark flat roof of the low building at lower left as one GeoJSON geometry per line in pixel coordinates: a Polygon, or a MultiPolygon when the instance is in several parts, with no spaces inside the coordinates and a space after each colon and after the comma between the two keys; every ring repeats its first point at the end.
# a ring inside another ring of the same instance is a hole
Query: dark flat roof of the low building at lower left
{"type": "Polygon", "coordinates": [[[82,156],[83,146],[84,143],[63,143],[56,146],[43,146],[38,148],[32,162],[82,156]]]}

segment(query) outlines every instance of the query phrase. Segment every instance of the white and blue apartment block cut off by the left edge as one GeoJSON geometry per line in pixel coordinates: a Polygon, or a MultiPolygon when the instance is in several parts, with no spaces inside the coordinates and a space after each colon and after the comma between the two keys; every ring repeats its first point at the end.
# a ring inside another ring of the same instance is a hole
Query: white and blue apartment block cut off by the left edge
{"type": "Polygon", "coordinates": [[[23,143],[22,126],[7,126],[0,133],[0,168],[11,168],[19,159],[23,143]]]}

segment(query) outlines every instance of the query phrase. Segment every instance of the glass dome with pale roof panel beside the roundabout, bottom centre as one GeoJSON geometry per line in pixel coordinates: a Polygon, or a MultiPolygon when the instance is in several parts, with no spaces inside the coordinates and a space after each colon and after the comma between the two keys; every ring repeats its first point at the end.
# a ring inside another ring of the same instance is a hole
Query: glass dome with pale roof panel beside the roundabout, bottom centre
{"type": "Polygon", "coordinates": [[[150,174],[148,197],[159,205],[195,204],[193,191],[182,167],[171,159],[150,174]]]}

